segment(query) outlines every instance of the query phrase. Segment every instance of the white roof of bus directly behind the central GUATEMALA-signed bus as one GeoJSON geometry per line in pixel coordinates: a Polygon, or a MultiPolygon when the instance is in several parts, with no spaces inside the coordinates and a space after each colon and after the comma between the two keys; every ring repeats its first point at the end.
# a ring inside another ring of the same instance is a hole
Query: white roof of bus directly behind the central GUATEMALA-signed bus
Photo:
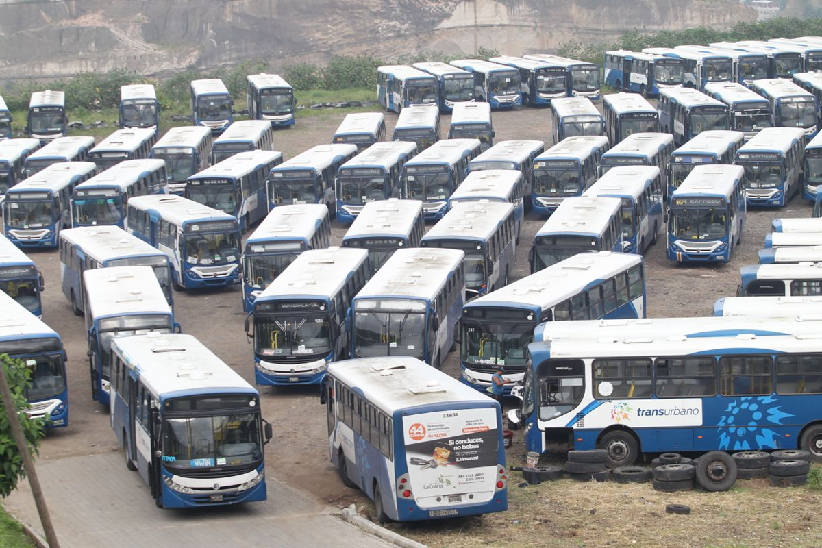
{"type": "MultiPolygon", "coordinates": [[[[463,182],[463,184],[465,184],[463,182]]],[[[343,242],[358,237],[382,236],[408,237],[414,223],[423,214],[422,200],[375,200],[363,205],[351,227],[343,237],[343,242]]]]}

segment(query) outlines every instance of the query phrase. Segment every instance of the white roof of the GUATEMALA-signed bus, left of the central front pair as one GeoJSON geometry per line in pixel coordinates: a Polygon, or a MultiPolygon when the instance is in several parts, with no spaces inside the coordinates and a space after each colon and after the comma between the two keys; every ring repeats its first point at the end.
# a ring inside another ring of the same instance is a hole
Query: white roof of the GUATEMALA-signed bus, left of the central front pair
{"type": "Polygon", "coordinates": [[[303,251],[256,297],[255,304],[275,298],[333,297],[366,260],[365,249],[329,247],[303,251]]]}

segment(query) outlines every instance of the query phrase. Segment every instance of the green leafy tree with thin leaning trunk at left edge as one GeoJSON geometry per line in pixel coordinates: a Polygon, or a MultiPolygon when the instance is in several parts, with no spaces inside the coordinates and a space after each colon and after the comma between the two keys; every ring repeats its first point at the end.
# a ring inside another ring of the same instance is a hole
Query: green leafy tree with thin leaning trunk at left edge
{"type": "MultiPolygon", "coordinates": [[[[38,453],[40,440],[45,435],[43,418],[31,418],[25,409],[29,408],[25,390],[31,385],[31,370],[21,360],[0,354],[0,367],[6,372],[9,388],[12,390],[12,401],[18,409],[25,440],[32,454],[38,453]]],[[[17,486],[17,481],[25,477],[23,458],[17,450],[12,437],[6,408],[0,405],[0,496],[7,497],[17,486]]]]}

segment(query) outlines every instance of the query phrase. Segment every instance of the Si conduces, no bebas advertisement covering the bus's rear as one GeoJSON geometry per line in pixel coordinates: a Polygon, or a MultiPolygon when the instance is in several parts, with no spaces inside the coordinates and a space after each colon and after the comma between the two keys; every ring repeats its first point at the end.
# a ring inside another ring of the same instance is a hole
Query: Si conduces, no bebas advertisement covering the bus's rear
{"type": "Polygon", "coordinates": [[[412,415],[403,426],[409,483],[420,507],[491,500],[500,435],[496,409],[412,415]]]}

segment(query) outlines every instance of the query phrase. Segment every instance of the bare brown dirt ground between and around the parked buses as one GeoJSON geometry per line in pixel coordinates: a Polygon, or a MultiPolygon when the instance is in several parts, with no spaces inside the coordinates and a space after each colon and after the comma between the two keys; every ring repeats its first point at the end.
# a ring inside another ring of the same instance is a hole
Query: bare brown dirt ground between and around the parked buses
{"type": "MultiPolygon", "coordinates": [[[[545,140],[547,146],[553,144],[547,109],[523,108],[493,116],[496,140],[538,139],[545,140]]],[[[328,143],[343,117],[344,113],[329,111],[301,118],[297,127],[275,133],[276,148],[290,158],[313,145],[328,143]]],[[[386,114],[386,120],[391,131],[396,115],[386,114]]],[[[443,134],[448,124],[444,116],[443,134]]],[[[674,265],[665,259],[664,240],[660,237],[660,243],[646,256],[649,316],[710,315],[715,299],[735,293],[739,268],[757,261],[756,252],[769,232],[771,220],[809,214],[810,207],[798,198],[782,210],[750,211],[742,245],[727,265],[674,265]]],[[[528,274],[529,242],[542,223],[543,219],[533,215],[524,223],[513,278],[528,274]]],[[[343,225],[334,224],[335,244],[339,244],[345,230],[343,225]]],[[[58,253],[30,251],[30,256],[44,273],[44,320],[62,335],[70,359],[70,425],[49,432],[40,458],[120,451],[107,409],[91,400],[83,320],[72,315],[60,290],[58,253]]],[[[183,331],[200,338],[253,384],[252,348],[243,332],[245,314],[240,288],[177,292],[175,300],[183,331]]],[[[458,374],[458,352],[450,354],[444,370],[458,374]]],[[[267,448],[268,472],[334,506],[354,502],[367,508],[367,498],[345,488],[330,466],[326,419],[316,387],[260,387],[260,391],[263,415],[275,431],[267,448]]],[[[514,404],[512,400],[510,405],[514,404]]],[[[521,460],[522,453],[522,445],[515,444],[510,449],[510,462],[521,460]]],[[[581,485],[569,480],[518,489],[519,474],[513,476],[517,477],[512,477],[511,509],[507,513],[395,527],[431,546],[822,546],[815,510],[810,510],[818,508],[820,495],[806,488],[777,490],[756,485],[723,495],[666,497],[650,486],[581,485]],[[533,511],[525,513],[520,503],[531,500],[537,501],[533,506],[529,504],[533,511]],[[665,501],[693,501],[695,513],[690,517],[669,516],[664,513],[665,501]],[[598,511],[592,515],[592,509],[598,511]]],[[[148,498],[145,504],[150,504],[148,498]]]]}

